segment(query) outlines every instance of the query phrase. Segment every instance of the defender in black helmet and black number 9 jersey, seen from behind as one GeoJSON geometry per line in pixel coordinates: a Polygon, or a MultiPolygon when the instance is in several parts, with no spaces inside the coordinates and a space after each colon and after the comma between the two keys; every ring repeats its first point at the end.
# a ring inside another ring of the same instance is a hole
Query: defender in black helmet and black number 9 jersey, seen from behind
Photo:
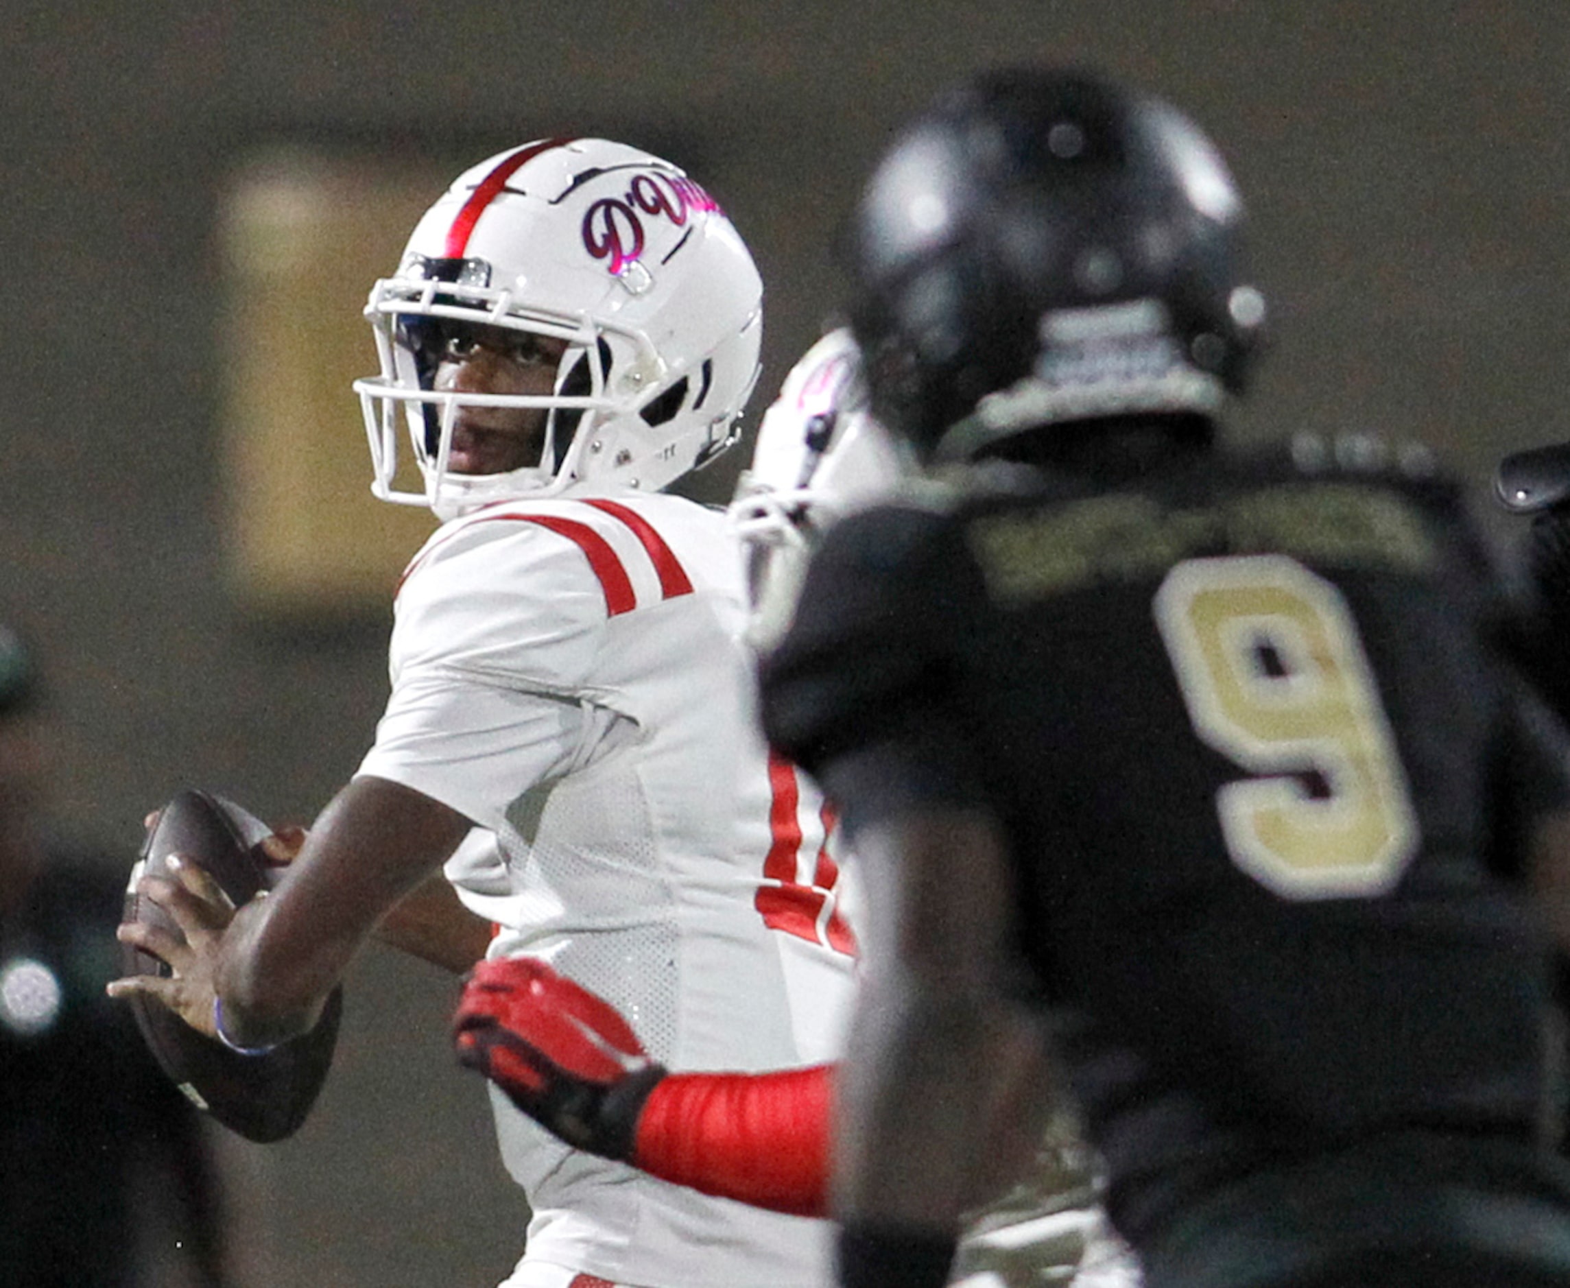
{"type": "Polygon", "coordinates": [[[1570,1282],[1528,911],[1564,727],[1421,456],[1218,441],[1239,221],[1173,108],[1028,71],[859,207],[874,412],[933,481],[829,534],[763,669],[867,869],[853,1288],[942,1283],[1031,1016],[1152,1288],[1570,1282]]]}

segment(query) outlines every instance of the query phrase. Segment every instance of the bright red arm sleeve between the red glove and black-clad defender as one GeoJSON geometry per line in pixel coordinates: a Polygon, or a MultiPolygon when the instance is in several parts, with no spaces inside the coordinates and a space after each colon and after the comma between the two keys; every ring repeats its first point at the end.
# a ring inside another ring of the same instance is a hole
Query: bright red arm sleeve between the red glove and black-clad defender
{"type": "Polygon", "coordinates": [[[719,1198],[824,1216],[832,1084],[832,1065],[672,1073],[644,1104],[631,1161],[719,1198]]]}

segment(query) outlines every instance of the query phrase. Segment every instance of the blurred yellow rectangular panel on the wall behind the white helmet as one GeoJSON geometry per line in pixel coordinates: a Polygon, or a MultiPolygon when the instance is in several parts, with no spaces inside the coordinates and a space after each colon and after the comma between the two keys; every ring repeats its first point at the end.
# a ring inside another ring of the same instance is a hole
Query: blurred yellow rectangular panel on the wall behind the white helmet
{"type": "MultiPolygon", "coordinates": [[[[377,372],[360,316],[369,284],[396,269],[408,229],[449,177],[287,149],[250,162],[225,193],[229,575],[250,611],[377,609],[435,528],[424,507],[371,495],[350,383],[377,372]]],[[[418,485],[418,474],[405,482],[418,485]]]]}

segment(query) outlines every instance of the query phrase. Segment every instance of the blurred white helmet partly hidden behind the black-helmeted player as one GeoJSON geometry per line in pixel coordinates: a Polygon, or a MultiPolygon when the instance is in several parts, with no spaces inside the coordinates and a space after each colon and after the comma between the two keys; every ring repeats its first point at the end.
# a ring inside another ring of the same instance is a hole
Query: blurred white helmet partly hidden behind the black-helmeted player
{"type": "Polygon", "coordinates": [[[752,465],[730,503],[747,554],[754,644],[771,644],[788,625],[823,532],[893,490],[907,468],[903,448],[867,410],[849,328],[829,331],[791,368],[763,413],[752,465]]]}

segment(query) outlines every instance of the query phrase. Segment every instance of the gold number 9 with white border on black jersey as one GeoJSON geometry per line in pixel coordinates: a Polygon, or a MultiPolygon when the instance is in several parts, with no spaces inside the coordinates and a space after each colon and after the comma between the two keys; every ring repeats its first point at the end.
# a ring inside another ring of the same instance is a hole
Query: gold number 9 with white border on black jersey
{"type": "Polygon", "coordinates": [[[1341,592],[1283,554],[1188,559],[1154,608],[1195,730],[1251,774],[1217,792],[1232,861],[1286,898],[1394,886],[1418,823],[1341,592]]]}

